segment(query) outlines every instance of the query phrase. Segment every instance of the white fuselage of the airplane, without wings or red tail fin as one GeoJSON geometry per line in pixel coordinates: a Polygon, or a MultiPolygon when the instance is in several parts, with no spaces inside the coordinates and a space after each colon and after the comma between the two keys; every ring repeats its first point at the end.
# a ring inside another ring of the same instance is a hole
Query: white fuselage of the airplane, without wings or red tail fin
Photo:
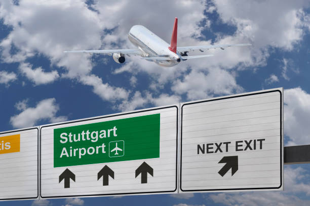
{"type": "Polygon", "coordinates": [[[128,38],[141,50],[144,57],[169,57],[171,59],[154,61],[160,66],[173,67],[180,62],[180,55],[172,52],[166,41],[144,26],[135,25],[131,27],[128,38]]]}

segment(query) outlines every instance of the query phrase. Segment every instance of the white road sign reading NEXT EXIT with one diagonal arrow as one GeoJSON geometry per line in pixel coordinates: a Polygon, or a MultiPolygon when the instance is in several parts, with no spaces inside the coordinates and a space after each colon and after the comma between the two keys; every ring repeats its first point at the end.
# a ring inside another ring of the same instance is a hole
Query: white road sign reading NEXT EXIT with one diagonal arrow
{"type": "Polygon", "coordinates": [[[283,190],[282,93],[183,104],[180,192],[283,190]]]}

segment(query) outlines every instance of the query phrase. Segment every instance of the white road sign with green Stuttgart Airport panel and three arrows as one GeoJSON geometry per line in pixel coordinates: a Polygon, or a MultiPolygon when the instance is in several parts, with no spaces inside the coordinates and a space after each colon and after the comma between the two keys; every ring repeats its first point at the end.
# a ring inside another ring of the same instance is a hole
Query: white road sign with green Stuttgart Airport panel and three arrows
{"type": "Polygon", "coordinates": [[[173,193],[177,106],[41,127],[41,197],[173,193]]]}

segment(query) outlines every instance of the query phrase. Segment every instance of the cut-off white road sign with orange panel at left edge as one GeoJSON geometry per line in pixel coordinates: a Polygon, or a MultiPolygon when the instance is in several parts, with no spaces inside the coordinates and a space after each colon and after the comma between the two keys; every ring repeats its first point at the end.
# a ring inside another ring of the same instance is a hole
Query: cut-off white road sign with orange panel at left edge
{"type": "Polygon", "coordinates": [[[0,200],[38,197],[38,129],[0,133],[0,200]]]}

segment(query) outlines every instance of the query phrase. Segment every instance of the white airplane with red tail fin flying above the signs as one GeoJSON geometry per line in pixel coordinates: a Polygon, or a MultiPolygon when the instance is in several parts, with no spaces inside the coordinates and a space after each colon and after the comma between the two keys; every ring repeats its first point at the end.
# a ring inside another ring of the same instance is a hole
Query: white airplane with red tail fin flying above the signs
{"type": "Polygon", "coordinates": [[[137,47],[132,49],[109,49],[109,50],[70,50],[65,53],[99,53],[113,57],[116,63],[125,62],[125,56],[141,56],[142,59],[154,62],[163,67],[173,67],[182,61],[188,59],[205,58],[213,55],[197,55],[188,56],[187,53],[193,50],[205,50],[211,48],[221,48],[231,46],[250,46],[249,43],[242,44],[218,44],[218,45],[201,45],[201,46],[177,46],[177,29],[178,18],[174,20],[174,26],[171,36],[170,45],[162,38],[148,30],[142,25],[134,25],[131,27],[128,38],[137,47]]]}

